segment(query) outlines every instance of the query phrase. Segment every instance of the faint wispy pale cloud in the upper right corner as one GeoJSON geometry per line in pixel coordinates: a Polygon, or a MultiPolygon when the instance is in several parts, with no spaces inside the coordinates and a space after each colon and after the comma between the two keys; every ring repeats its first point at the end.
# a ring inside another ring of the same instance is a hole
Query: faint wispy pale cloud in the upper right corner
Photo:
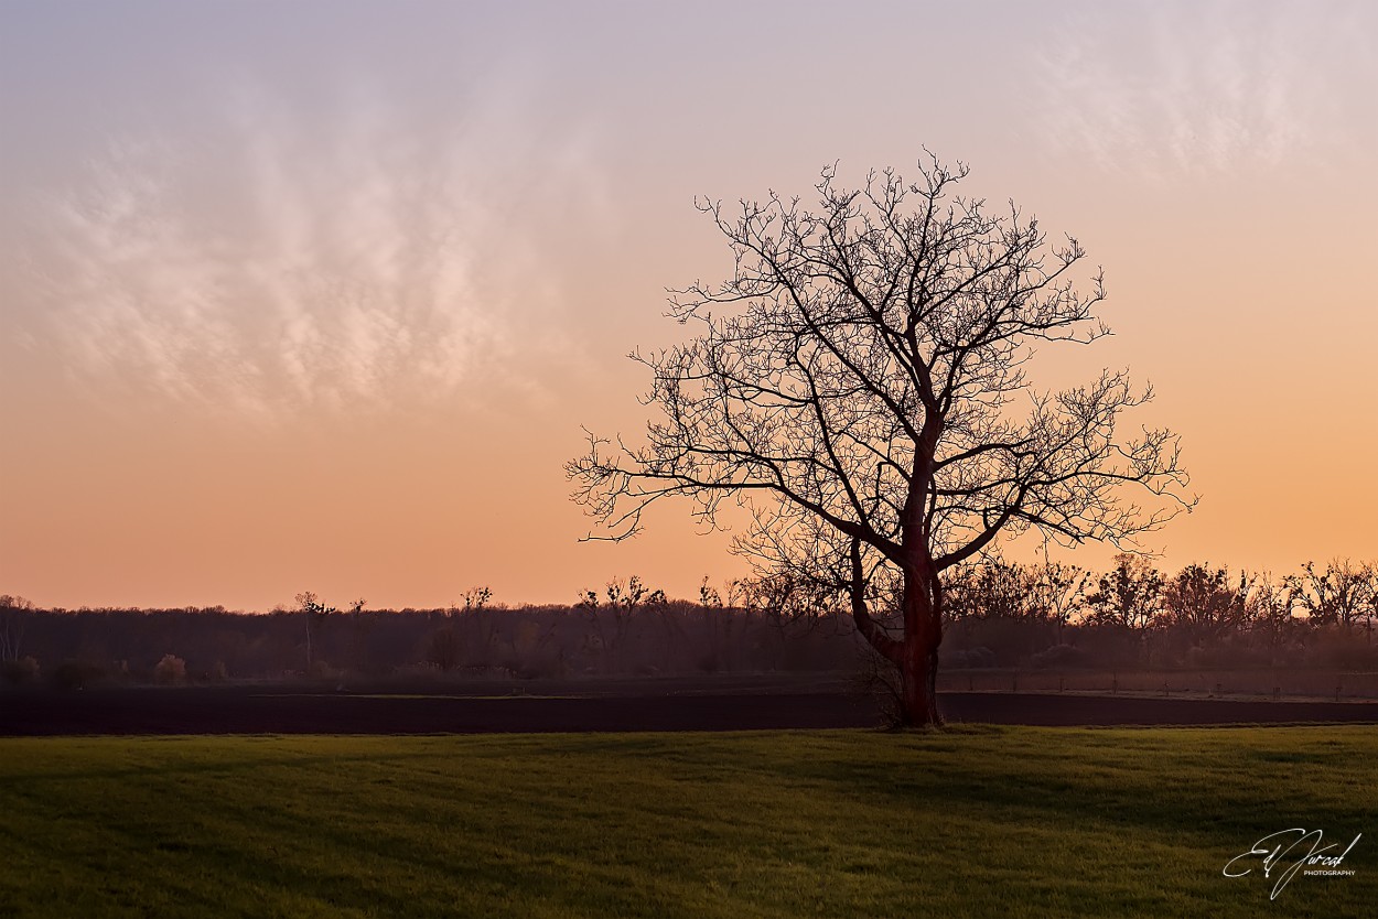
{"type": "Polygon", "coordinates": [[[1051,147],[1148,176],[1320,156],[1352,131],[1375,26],[1366,4],[1098,4],[1040,55],[1038,117],[1051,147]]]}

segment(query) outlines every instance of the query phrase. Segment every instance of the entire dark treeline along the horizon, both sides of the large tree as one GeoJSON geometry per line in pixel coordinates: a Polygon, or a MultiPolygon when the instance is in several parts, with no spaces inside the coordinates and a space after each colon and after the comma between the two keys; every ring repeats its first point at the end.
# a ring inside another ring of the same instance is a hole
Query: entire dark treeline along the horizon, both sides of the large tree
{"type": "MultiPolygon", "coordinates": [[[[1378,670],[1378,565],[1306,564],[1275,577],[1137,555],[1107,572],[989,558],[947,581],[941,663],[956,668],[1378,670]]],[[[508,608],[480,587],[444,609],[40,609],[0,595],[7,685],[234,679],[856,671],[868,652],[841,594],[787,575],[704,579],[697,601],[638,577],[573,605],[508,608]]]]}

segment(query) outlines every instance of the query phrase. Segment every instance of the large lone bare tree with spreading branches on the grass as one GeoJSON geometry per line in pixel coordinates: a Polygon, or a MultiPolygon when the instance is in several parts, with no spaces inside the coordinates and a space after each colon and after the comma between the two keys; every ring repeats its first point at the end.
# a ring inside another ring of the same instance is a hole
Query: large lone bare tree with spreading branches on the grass
{"type": "Polygon", "coordinates": [[[711,525],[744,506],[737,551],[845,598],[900,671],[901,721],[926,725],[941,721],[947,569],[1028,529],[1131,541],[1195,499],[1173,433],[1118,435],[1149,389],[1126,372],[1060,393],[1025,376],[1035,347],[1109,333],[1100,273],[1087,293],[1073,284],[1080,244],[1050,245],[1013,204],[996,214],[958,194],[962,164],[919,171],[849,190],[827,168],[817,211],[776,193],[732,212],[699,203],[734,270],[672,292],[668,316],[695,338],[631,355],[663,413],[645,441],[590,434],[566,471],[598,539],[634,535],[668,496],[711,525]]]}

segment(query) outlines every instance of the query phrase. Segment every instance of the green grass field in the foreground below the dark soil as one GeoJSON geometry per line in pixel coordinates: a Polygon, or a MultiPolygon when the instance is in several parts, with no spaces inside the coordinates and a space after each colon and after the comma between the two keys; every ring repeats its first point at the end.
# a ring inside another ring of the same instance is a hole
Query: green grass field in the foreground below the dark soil
{"type": "Polygon", "coordinates": [[[1372,727],[0,740],[0,916],[1360,916],[1372,727]],[[1352,878],[1275,902],[1261,836],[1352,878]]]}

